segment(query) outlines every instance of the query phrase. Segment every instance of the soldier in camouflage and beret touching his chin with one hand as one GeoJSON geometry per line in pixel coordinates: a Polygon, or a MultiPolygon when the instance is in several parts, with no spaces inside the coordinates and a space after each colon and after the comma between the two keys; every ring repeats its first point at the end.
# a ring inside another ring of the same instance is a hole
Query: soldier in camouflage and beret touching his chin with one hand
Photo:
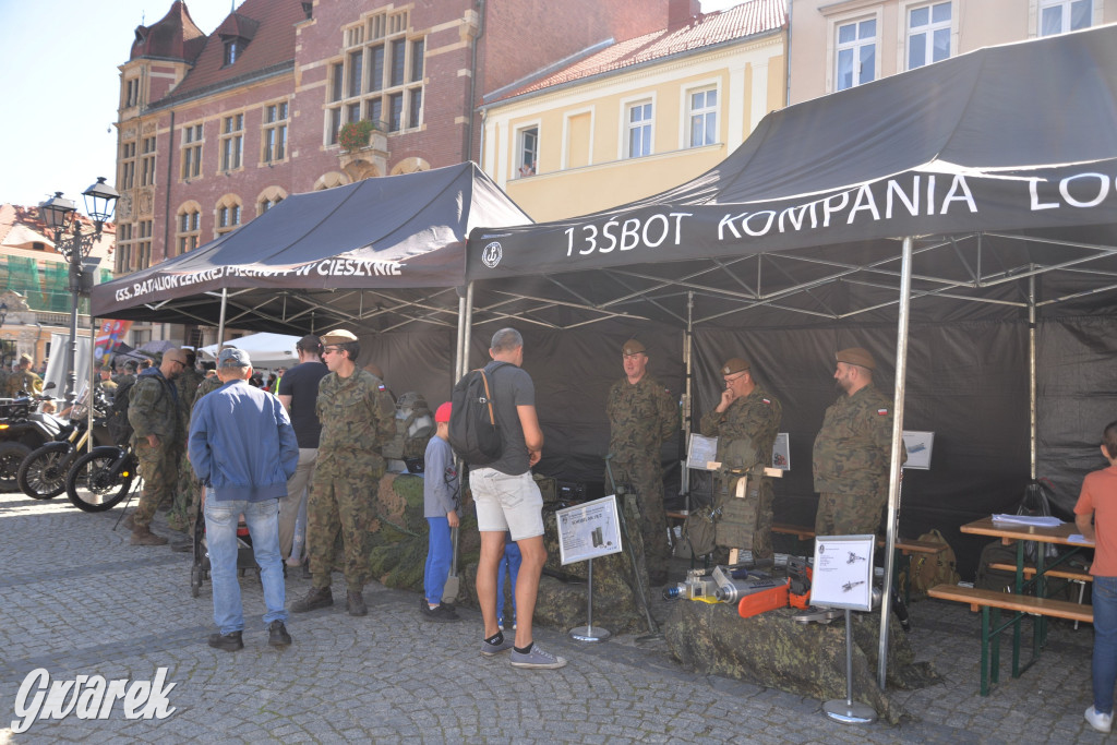
{"type": "Polygon", "coordinates": [[[722,365],[725,390],[714,411],[699,423],[707,437],[717,437],[717,459],[724,469],[747,469],[745,497],[736,496],[741,474],[718,474],[714,506],[723,510],[726,528],[719,525],[718,544],[747,548],[755,558],[772,557],[772,481],[760,474],[772,465],[772,445],[780,430],[780,402],[753,378],[751,365],[733,357],[722,365]],[[757,488],[754,488],[757,487],[757,488]],[[729,523],[739,523],[731,528],[729,523]]]}

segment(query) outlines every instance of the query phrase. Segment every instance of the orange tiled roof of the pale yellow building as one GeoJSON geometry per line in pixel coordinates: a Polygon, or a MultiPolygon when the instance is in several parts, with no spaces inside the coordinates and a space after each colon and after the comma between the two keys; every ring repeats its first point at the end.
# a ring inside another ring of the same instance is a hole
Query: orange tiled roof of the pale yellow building
{"type": "Polygon", "coordinates": [[[562,69],[516,88],[497,92],[491,101],[515,98],[528,93],[596,75],[613,73],[675,55],[738,41],[752,36],[777,31],[787,26],[787,0],[750,0],[717,13],[699,15],[680,28],[663,28],[634,39],[619,41],[595,54],[579,59],[562,69]]]}

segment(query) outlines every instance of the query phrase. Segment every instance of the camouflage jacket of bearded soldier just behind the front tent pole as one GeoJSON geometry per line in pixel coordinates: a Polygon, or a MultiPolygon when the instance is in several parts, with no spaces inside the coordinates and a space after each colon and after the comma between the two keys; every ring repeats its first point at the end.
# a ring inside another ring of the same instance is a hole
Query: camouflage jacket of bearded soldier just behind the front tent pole
{"type": "MultiPolygon", "coordinates": [[[[827,409],[814,438],[814,490],[877,494],[888,486],[892,400],[872,384],[827,409]]],[[[906,456],[904,460],[906,460],[906,456]]]]}

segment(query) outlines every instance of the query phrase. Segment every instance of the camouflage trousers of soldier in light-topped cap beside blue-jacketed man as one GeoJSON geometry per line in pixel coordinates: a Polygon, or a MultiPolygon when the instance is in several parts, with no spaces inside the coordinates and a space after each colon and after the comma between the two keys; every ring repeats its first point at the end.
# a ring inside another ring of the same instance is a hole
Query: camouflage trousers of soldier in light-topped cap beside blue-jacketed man
{"type": "MultiPolygon", "coordinates": [[[[325,469],[324,469],[325,470],[325,469]]],[[[346,589],[360,591],[369,580],[367,535],[375,517],[378,479],[342,479],[316,471],[306,503],[306,546],[314,586],[330,586],[335,544],[342,538],[346,589]]]]}

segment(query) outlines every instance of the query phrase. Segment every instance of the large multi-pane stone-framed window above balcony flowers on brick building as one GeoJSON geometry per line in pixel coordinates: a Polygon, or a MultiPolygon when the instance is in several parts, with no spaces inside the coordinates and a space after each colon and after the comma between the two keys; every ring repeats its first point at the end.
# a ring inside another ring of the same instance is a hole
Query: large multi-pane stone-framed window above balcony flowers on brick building
{"type": "Polygon", "coordinates": [[[362,112],[388,132],[421,127],[427,44],[408,34],[408,11],[373,13],[343,34],[349,51],[331,70],[326,144],[336,144],[342,123],[362,112]]]}

